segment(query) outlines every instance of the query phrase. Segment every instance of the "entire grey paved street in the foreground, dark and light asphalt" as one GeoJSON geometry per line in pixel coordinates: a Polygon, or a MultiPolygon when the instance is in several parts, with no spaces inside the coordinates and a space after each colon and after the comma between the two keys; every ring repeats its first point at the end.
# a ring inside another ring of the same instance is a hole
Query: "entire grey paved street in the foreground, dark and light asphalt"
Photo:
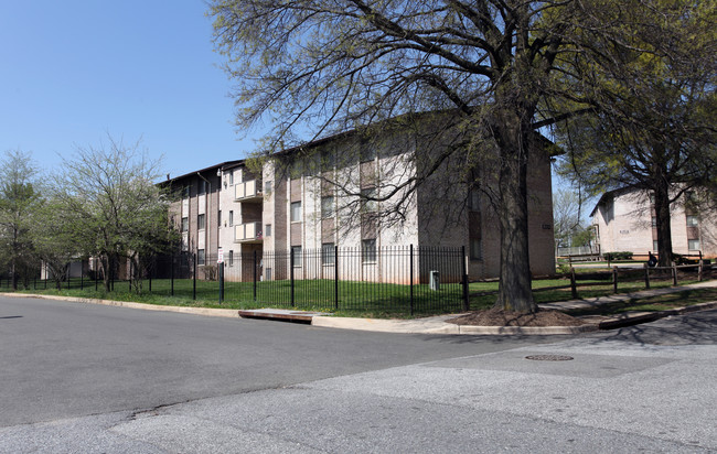
{"type": "Polygon", "coordinates": [[[0,298],[0,452],[714,452],[716,325],[406,335],[0,298]]]}

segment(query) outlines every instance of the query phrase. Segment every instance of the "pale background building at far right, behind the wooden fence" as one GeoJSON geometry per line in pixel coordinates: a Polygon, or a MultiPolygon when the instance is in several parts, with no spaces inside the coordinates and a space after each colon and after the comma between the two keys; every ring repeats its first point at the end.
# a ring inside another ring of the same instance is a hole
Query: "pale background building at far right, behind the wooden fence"
{"type": "MultiPolygon", "coordinates": [[[[689,193],[685,197],[689,197],[689,193]]],[[[675,253],[717,257],[717,214],[699,212],[691,204],[670,208],[672,248],[675,253]]],[[[654,198],[648,191],[621,188],[600,197],[590,213],[596,242],[601,253],[657,251],[654,198]]]]}

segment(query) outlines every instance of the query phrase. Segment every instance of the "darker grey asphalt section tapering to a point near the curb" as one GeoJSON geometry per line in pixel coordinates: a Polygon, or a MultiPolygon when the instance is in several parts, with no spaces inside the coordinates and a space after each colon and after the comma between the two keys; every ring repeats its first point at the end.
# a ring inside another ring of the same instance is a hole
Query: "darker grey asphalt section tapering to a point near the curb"
{"type": "Polygon", "coordinates": [[[0,296],[0,426],[281,388],[526,342],[0,296]]]}

